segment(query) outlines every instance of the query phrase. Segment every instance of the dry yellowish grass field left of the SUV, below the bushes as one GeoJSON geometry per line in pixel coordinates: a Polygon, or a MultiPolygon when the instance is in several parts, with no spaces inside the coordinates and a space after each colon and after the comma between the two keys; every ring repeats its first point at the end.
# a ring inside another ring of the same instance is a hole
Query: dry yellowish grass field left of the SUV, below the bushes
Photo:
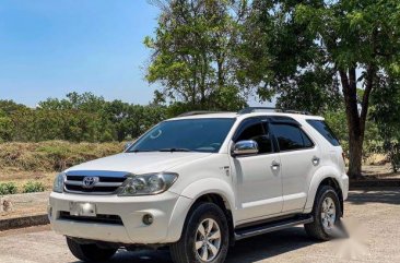
{"type": "MultiPolygon", "coordinates": [[[[0,143],[0,186],[13,193],[49,191],[55,176],[71,166],[122,152],[123,143],[0,143]]],[[[1,187],[0,194],[9,192],[1,187]],[[4,191],[4,193],[1,193],[4,191]]]]}

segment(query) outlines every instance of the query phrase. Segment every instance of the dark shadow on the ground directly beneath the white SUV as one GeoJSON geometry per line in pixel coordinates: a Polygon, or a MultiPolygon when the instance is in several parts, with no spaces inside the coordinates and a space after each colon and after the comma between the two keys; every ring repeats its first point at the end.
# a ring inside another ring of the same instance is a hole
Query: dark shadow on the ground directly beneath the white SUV
{"type": "MultiPolygon", "coordinates": [[[[230,249],[226,263],[252,263],[273,258],[275,255],[302,249],[314,244],[303,227],[293,227],[277,232],[271,232],[238,241],[230,249]]],[[[80,261],[77,261],[78,263],[80,261]]],[[[140,251],[118,253],[109,261],[110,263],[173,263],[169,252],[140,251]]]]}

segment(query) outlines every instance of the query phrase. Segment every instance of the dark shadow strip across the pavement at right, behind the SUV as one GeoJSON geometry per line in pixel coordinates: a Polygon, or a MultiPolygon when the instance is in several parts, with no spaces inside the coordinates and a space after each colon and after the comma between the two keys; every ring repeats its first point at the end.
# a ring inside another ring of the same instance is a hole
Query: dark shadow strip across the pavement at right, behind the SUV
{"type": "Polygon", "coordinates": [[[352,191],[349,193],[346,202],[356,205],[366,203],[400,204],[400,189],[385,188],[352,191]]]}

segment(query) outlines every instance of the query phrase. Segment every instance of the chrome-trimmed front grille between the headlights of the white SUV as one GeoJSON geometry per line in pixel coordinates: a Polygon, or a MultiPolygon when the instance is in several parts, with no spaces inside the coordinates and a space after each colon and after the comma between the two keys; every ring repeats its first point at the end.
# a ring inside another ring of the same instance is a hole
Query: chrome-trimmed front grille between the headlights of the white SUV
{"type": "Polygon", "coordinates": [[[71,171],[67,172],[64,190],[70,193],[114,194],[123,184],[127,175],[117,171],[71,171]],[[85,186],[86,177],[95,178],[95,183],[85,186]]]}

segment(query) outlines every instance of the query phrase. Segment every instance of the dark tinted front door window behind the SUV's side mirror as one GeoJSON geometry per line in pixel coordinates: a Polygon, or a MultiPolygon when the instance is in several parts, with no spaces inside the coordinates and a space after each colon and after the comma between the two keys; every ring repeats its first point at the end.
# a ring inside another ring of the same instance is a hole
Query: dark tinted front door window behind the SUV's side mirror
{"type": "Polygon", "coordinates": [[[259,154],[271,153],[272,143],[269,131],[266,131],[266,129],[268,128],[264,128],[258,119],[245,120],[238,130],[239,133],[237,134],[235,142],[252,140],[258,144],[259,154]]]}

